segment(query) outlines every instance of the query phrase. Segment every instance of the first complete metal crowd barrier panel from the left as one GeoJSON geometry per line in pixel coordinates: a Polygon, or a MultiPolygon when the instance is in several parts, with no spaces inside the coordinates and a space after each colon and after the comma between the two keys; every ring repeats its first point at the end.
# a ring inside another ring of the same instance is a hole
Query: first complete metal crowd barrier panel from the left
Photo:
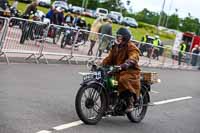
{"type": "Polygon", "coordinates": [[[7,53],[29,54],[38,63],[37,55],[40,54],[42,38],[47,24],[21,18],[10,18],[3,39],[2,51],[7,53]]]}

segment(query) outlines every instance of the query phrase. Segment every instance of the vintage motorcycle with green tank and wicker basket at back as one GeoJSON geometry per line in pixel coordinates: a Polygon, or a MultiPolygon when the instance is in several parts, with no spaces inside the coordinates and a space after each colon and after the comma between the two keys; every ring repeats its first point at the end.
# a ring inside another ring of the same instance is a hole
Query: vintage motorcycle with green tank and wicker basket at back
{"type": "Polygon", "coordinates": [[[145,117],[150,103],[149,91],[153,83],[160,82],[155,72],[141,73],[141,93],[134,101],[134,110],[126,113],[127,104],[119,95],[118,82],[114,74],[118,66],[97,67],[92,65],[91,72],[80,73],[83,82],[77,92],[75,107],[79,118],[89,125],[97,124],[104,116],[127,115],[131,122],[139,123],[145,117]]]}

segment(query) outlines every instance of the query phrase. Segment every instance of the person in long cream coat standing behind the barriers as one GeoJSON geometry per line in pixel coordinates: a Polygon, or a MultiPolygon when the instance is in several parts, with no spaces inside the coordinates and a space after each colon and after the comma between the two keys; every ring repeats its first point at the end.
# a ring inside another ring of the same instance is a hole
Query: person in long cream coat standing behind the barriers
{"type": "Polygon", "coordinates": [[[102,24],[103,24],[103,19],[101,17],[97,18],[92,24],[91,33],[89,34],[88,37],[88,40],[90,40],[90,49],[88,51],[88,55],[93,55],[93,47],[96,41],[98,40],[97,33],[99,32],[99,29],[102,26],[102,24]]]}

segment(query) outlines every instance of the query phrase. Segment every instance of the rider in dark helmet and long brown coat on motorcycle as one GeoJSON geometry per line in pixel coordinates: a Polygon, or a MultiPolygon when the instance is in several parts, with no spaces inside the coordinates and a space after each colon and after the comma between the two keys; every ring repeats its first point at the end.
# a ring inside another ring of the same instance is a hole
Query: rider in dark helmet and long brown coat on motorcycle
{"type": "Polygon", "coordinates": [[[117,31],[115,43],[102,65],[118,65],[116,73],[120,96],[127,102],[126,112],[133,111],[133,103],[140,95],[139,49],[130,41],[131,33],[126,28],[117,31]]]}

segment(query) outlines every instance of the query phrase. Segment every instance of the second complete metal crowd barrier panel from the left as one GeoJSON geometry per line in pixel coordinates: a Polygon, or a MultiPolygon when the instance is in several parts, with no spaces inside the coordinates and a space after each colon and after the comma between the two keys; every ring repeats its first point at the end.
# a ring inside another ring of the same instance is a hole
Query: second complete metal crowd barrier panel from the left
{"type": "Polygon", "coordinates": [[[72,44],[74,43],[73,37],[76,35],[77,31],[78,30],[68,26],[49,25],[41,47],[41,54],[38,59],[44,57],[46,63],[48,63],[46,56],[59,56],[60,58],[58,61],[62,61],[66,58],[66,61],[69,62],[72,58],[72,44]],[[66,37],[67,33],[72,34],[70,38],[66,37]]]}

